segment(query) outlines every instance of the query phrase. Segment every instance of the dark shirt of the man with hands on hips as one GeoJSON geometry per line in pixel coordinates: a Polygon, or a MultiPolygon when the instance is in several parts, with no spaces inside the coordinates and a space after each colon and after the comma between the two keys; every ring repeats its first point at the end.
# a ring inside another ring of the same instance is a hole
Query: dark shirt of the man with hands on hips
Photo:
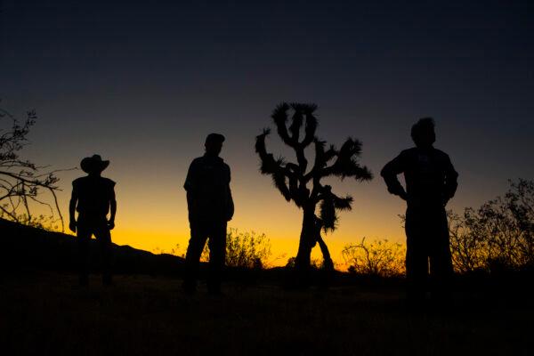
{"type": "Polygon", "coordinates": [[[443,206],[457,190],[457,172],[449,156],[434,148],[403,150],[381,175],[392,194],[401,194],[397,174],[404,174],[409,206],[443,206]]]}

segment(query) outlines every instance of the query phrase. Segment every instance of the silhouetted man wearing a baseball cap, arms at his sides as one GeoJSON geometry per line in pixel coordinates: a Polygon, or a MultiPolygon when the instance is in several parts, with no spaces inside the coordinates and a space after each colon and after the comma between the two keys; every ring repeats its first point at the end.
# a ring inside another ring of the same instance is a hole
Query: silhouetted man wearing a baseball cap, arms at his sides
{"type": "Polygon", "coordinates": [[[183,188],[187,191],[190,221],[190,241],[185,257],[184,291],[195,292],[198,264],[202,250],[209,239],[209,274],[207,288],[210,294],[221,293],[221,274],[226,253],[226,223],[234,212],[230,190],[230,166],[219,157],[223,149],[222,134],[208,134],[204,156],[190,164],[183,188]]]}

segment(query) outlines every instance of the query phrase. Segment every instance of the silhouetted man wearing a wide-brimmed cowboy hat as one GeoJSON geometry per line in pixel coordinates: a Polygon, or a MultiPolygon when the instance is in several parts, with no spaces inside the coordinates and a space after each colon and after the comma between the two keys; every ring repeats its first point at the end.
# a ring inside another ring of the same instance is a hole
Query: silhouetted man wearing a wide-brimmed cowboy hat
{"type": "Polygon", "coordinates": [[[69,204],[69,229],[77,232],[80,284],[85,286],[89,280],[89,241],[94,235],[101,247],[102,282],[104,285],[109,285],[111,284],[109,231],[115,227],[117,213],[115,182],[101,177],[101,172],[109,166],[109,161],[102,160],[99,155],[82,159],[80,166],[87,175],[72,182],[72,197],[69,204]],[[78,212],[77,219],[75,211],[78,212]]]}

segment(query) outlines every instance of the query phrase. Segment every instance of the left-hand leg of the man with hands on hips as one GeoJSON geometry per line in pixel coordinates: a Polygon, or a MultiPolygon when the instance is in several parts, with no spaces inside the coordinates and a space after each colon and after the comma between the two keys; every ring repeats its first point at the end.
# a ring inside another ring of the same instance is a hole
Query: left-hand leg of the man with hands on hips
{"type": "Polygon", "coordinates": [[[423,303],[428,278],[425,217],[417,211],[406,213],[406,279],[409,303],[423,303]]]}

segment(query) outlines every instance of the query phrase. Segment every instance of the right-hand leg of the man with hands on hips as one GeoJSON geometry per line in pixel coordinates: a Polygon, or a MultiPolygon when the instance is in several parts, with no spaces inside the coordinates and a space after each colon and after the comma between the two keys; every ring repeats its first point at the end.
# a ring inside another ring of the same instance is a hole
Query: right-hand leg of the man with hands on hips
{"type": "Polygon", "coordinates": [[[453,268],[449,247],[449,225],[445,210],[435,214],[432,220],[434,223],[430,246],[432,298],[440,303],[448,303],[453,268]]]}

